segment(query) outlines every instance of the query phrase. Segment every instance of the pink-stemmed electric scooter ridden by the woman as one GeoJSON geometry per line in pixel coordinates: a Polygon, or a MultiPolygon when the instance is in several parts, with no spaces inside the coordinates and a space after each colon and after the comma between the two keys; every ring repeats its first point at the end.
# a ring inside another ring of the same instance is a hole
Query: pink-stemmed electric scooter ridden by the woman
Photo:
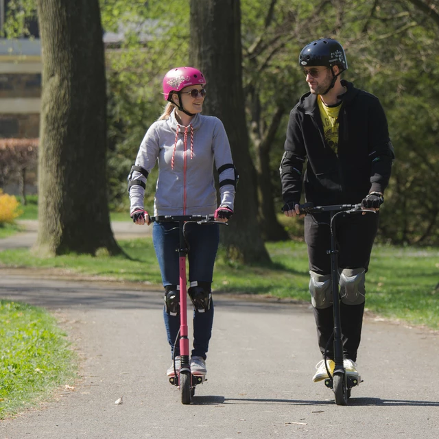
{"type": "MultiPolygon", "coordinates": [[[[196,224],[224,224],[225,222],[215,221],[213,215],[159,215],[150,217],[150,222],[175,222],[180,232],[178,251],[179,271],[180,271],[180,330],[175,344],[180,343],[180,369],[176,369],[176,359],[174,354],[174,377],[169,378],[172,385],[180,388],[182,404],[190,404],[192,396],[195,394],[195,385],[205,381],[205,377],[192,375],[190,366],[189,337],[187,329],[187,276],[186,276],[186,256],[189,246],[185,239],[185,225],[188,223],[196,224]]],[[[174,346],[175,346],[174,344],[174,346]]],[[[175,349],[174,349],[175,353],[175,349]]]]}

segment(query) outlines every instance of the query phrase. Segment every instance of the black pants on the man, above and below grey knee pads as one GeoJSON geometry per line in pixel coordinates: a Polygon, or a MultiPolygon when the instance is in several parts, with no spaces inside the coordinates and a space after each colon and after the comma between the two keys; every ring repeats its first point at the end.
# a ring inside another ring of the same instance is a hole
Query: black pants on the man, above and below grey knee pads
{"type": "MultiPolygon", "coordinates": [[[[373,241],[377,235],[379,213],[345,214],[335,217],[335,236],[337,239],[337,258],[339,268],[361,268],[368,270],[373,241]]],[[[331,230],[329,213],[307,215],[305,217],[305,241],[308,246],[309,270],[318,274],[331,274],[331,230]]],[[[317,337],[320,352],[333,358],[333,344],[327,346],[333,333],[333,307],[314,308],[317,337]]],[[[345,358],[357,359],[361,340],[364,303],[346,305],[340,303],[343,353],[345,358]]]]}

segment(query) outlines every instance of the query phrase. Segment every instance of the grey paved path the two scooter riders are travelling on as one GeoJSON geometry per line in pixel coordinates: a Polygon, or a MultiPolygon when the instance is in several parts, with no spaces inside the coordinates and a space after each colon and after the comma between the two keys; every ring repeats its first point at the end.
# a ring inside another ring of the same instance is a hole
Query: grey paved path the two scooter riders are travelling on
{"type": "Polygon", "coordinates": [[[348,407],[312,383],[307,305],[215,295],[208,381],[192,405],[165,377],[162,292],[0,269],[0,297],[46,307],[80,353],[74,390],[0,423],[0,439],[436,439],[439,335],[366,318],[348,407]],[[123,397],[123,404],[115,401],[123,397]]]}

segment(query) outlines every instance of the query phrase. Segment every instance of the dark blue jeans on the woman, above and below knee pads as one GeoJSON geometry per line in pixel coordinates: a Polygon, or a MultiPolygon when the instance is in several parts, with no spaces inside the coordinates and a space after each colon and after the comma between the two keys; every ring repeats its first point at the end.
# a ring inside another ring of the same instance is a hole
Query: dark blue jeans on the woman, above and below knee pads
{"type": "MultiPolygon", "coordinates": [[[[219,244],[218,224],[195,224],[185,226],[186,241],[189,244],[189,282],[212,282],[213,265],[219,244]]],[[[178,251],[180,246],[178,223],[154,223],[152,241],[156,250],[158,265],[160,265],[163,286],[179,285],[178,251]]],[[[176,343],[180,329],[180,316],[169,316],[163,309],[167,341],[171,346],[171,355],[180,355],[180,344],[176,343]]],[[[193,312],[193,350],[192,355],[206,359],[209,349],[213,325],[213,301],[209,311],[193,312]]]]}

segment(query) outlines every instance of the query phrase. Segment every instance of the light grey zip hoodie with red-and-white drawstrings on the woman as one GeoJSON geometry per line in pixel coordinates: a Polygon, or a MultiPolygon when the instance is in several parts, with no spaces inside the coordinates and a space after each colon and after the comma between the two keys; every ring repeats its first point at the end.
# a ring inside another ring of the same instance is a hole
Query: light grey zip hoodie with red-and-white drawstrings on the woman
{"type": "MultiPolygon", "coordinates": [[[[226,130],[217,117],[197,114],[187,127],[176,121],[175,110],[169,119],[156,121],[147,130],[139,148],[136,165],[149,173],[158,161],[154,215],[211,215],[217,209],[213,165],[233,164],[226,130]]],[[[132,180],[146,182],[134,171],[132,180]]],[[[222,180],[235,180],[234,169],[219,174],[222,180]]],[[[233,210],[234,185],[219,188],[221,206],[233,210]]],[[[130,212],[144,209],[145,189],[130,188],[130,212]]]]}

